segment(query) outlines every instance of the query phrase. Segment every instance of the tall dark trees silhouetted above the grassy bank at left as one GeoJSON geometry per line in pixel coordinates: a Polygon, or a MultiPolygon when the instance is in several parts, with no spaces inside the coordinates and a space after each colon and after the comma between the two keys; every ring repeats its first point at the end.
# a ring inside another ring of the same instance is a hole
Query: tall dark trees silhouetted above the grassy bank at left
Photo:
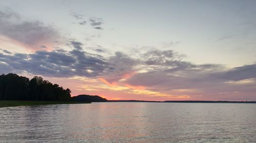
{"type": "Polygon", "coordinates": [[[70,93],[40,76],[29,80],[13,73],[0,75],[0,100],[69,101],[70,93]]]}

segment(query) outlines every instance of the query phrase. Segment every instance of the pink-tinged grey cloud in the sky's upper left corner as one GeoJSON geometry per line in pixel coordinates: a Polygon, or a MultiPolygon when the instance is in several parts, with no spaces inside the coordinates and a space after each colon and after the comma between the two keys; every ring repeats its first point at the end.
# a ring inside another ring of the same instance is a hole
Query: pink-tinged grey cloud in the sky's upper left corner
{"type": "Polygon", "coordinates": [[[12,10],[0,11],[0,35],[31,49],[39,49],[40,43],[53,43],[60,38],[59,32],[51,25],[25,20],[12,10]]]}

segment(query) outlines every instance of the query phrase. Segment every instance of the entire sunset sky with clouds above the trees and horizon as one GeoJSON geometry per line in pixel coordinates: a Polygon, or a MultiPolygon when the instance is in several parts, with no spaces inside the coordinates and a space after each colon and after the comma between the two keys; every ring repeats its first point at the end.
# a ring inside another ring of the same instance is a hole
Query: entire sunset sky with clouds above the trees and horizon
{"type": "Polygon", "coordinates": [[[2,0],[0,74],[108,100],[256,100],[255,7],[2,0]]]}

